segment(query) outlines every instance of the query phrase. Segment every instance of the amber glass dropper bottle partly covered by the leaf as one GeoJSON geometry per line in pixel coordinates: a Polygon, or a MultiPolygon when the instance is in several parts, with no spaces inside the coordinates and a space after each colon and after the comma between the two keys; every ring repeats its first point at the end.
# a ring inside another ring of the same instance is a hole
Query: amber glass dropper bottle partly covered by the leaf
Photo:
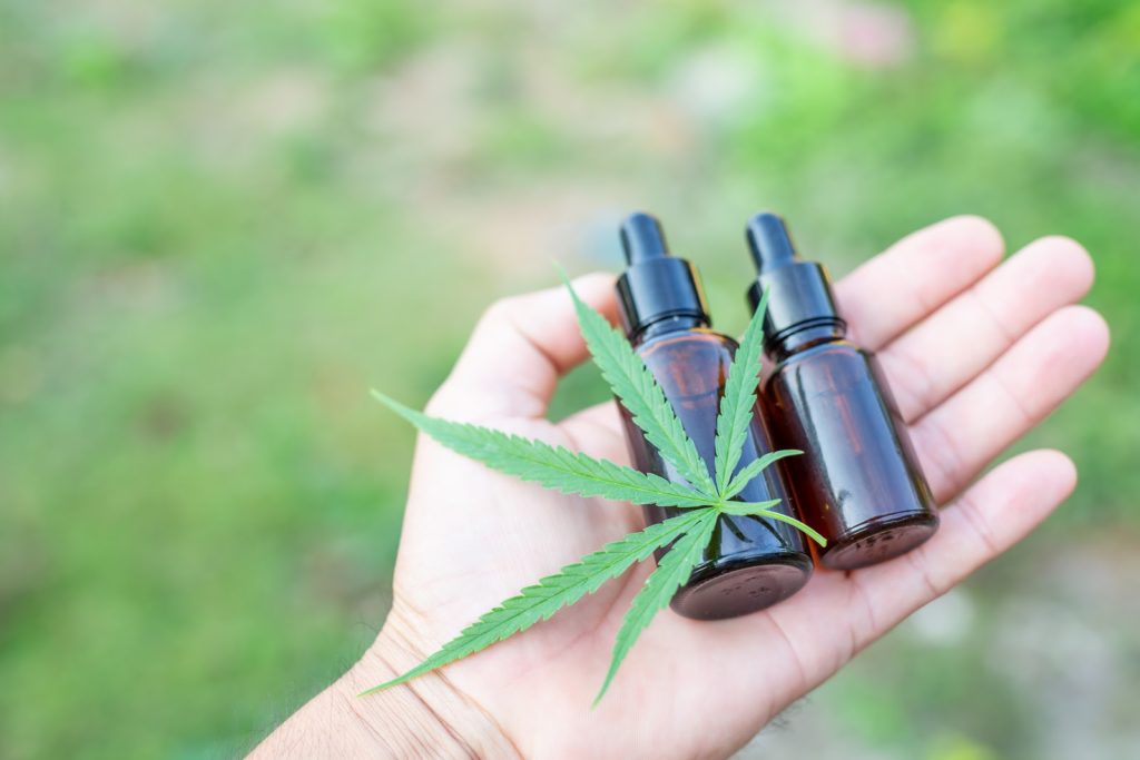
{"type": "MultiPolygon", "coordinates": [[[[669,255],[656,218],[630,215],[621,226],[621,243],[628,268],[618,279],[618,301],[626,333],[714,474],[717,411],[736,342],[709,329],[700,277],[687,261],[669,255]]],[[[628,412],[619,409],[634,466],[684,482],[628,412]]],[[[757,408],[739,467],[769,451],[771,439],[757,408]]],[[[738,498],[780,499],[775,508],[793,514],[774,466],[752,480],[738,498]]],[[[648,506],[645,518],[658,523],[681,512],[648,506]]],[[[722,516],[703,559],[674,596],[671,606],[686,618],[734,618],[791,596],[811,573],[812,558],[795,528],[754,516],[722,516]]]]}

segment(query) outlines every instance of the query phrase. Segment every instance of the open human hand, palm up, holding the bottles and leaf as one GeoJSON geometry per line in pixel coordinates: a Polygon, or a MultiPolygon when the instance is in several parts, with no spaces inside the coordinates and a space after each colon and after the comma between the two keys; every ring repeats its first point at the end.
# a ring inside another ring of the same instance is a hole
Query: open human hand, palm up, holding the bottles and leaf
{"type": "MultiPolygon", "coordinates": [[[[849,573],[817,570],[792,598],[743,618],[700,622],[666,610],[593,710],[621,618],[652,563],[442,671],[358,697],[522,587],[644,526],[641,507],[547,491],[420,436],[383,629],[254,754],[730,755],[1073,491],[1075,467],[1054,450],[1018,455],[978,479],[1108,349],[1104,319],[1074,305],[1093,279],[1078,244],[1047,237],[1002,256],[993,224],[959,216],[836,285],[852,337],[878,352],[943,505],[942,526],[923,546],[849,573]]],[[[614,319],[611,276],[575,287],[614,319]]],[[[628,464],[613,402],[557,424],[545,418],[559,378],[586,359],[564,288],[505,299],[479,321],[427,411],[628,464]]]]}

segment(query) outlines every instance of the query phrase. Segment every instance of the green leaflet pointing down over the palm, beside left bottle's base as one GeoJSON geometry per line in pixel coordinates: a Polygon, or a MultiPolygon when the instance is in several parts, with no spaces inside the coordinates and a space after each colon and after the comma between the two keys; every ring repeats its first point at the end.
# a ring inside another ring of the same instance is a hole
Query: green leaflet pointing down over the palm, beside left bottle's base
{"type": "Polygon", "coordinates": [[[708,546],[709,538],[712,536],[712,528],[716,525],[719,512],[717,509],[701,509],[695,514],[698,516],[697,523],[689,526],[689,532],[681,537],[666,551],[665,556],[658,563],[657,570],[650,574],[645,580],[645,586],[634,597],[634,602],[629,606],[629,612],[626,613],[625,620],[621,623],[621,630],[618,631],[617,641],[613,644],[610,670],[605,673],[605,681],[603,681],[601,690],[594,698],[595,705],[605,695],[605,690],[610,687],[610,681],[613,680],[613,676],[618,672],[621,661],[629,654],[634,641],[637,640],[641,632],[653,620],[653,615],[669,604],[669,599],[677,593],[682,583],[689,580],[693,567],[701,561],[705,547],[708,546]]]}

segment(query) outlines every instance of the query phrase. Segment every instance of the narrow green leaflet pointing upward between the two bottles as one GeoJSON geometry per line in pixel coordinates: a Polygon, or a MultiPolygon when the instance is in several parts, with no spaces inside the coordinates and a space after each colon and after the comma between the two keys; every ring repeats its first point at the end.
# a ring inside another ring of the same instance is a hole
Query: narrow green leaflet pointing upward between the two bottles
{"type": "MultiPolygon", "coordinates": [[[[732,365],[728,366],[728,379],[720,397],[720,414],[716,419],[717,493],[724,493],[728,489],[728,482],[740,463],[744,440],[752,424],[756,386],[760,382],[760,359],[764,356],[764,312],[767,304],[768,288],[764,288],[760,303],[756,307],[756,312],[748,322],[748,329],[740,340],[740,348],[736,349],[732,365]]],[[[755,476],[754,474],[752,477],[755,476]]]]}

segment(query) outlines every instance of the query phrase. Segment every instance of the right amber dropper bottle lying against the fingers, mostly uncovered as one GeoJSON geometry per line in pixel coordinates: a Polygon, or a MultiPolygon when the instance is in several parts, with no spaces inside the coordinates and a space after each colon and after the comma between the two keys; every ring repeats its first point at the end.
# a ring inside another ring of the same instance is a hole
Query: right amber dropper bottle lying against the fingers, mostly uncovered
{"type": "Polygon", "coordinates": [[[938,514],[874,356],[846,340],[826,272],[799,258],[780,216],[757,214],[747,237],[754,310],[771,287],[764,402],[776,444],[804,451],[781,464],[800,518],[828,539],[820,562],[853,570],[913,549],[938,514]]]}

